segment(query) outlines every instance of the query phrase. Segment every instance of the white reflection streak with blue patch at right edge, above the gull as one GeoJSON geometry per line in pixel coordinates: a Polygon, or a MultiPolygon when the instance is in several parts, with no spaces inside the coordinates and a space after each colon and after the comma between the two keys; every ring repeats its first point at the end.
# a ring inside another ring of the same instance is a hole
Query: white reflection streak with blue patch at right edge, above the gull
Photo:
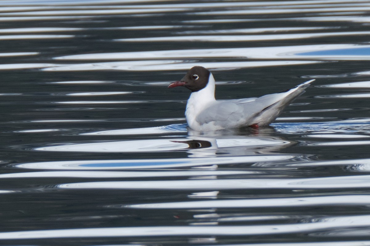
{"type": "Polygon", "coordinates": [[[253,48],[219,48],[219,49],[187,49],[167,51],[138,51],[115,53],[92,53],[81,55],[59,56],[57,60],[121,60],[121,59],[153,59],[153,58],[258,58],[258,59],[365,59],[370,56],[370,45],[355,44],[322,44],[273,46],[253,48]],[[330,54],[323,53],[332,51],[330,54]]]}

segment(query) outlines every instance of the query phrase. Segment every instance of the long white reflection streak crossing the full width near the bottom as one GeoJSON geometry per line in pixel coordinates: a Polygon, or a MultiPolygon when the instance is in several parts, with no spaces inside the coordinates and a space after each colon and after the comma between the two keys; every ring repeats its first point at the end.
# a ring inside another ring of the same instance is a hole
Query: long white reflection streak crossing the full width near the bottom
{"type": "MultiPolygon", "coordinates": [[[[282,233],[309,233],[320,230],[355,229],[370,226],[369,215],[337,216],[314,219],[311,222],[268,225],[233,226],[137,226],[112,228],[57,229],[40,231],[1,232],[0,239],[42,238],[107,238],[132,236],[181,236],[181,235],[276,235],[282,233]]],[[[339,236],[337,233],[333,236],[339,236]]],[[[326,234],[330,236],[330,234],[326,234]]],[[[286,245],[286,244],[284,244],[286,245]]]]}

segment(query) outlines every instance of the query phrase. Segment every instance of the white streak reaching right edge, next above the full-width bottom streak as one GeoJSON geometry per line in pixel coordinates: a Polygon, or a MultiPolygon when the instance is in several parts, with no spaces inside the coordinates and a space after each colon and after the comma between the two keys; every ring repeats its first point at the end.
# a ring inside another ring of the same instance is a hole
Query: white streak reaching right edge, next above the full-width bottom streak
{"type": "Polygon", "coordinates": [[[330,195],[287,198],[229,199],[212,201],[163,202],[126,205],[128,208],[178,209],[178,208],[265,208],[299,206],[370,205],[370,195],[330,195]]]}

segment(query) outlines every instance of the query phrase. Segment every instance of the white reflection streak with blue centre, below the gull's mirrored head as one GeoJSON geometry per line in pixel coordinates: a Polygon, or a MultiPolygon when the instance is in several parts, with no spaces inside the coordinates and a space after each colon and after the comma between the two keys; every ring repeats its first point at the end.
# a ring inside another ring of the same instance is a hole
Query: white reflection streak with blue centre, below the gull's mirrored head
{"type": "Polygon", "coordinates": [[[258,163],[290,160],[295,155],[252,155],[229,156],[209,158],[177,158],[177,159],[142,159],[142,160],[81,160],[60,162],[30,162],[15,164],[15,167],[25,169],[46,170],[107,170],[107,169],[138,169],[138,168],[163,168],[163,167],[191,167],[210,166],[236,163],[258,163]]]}

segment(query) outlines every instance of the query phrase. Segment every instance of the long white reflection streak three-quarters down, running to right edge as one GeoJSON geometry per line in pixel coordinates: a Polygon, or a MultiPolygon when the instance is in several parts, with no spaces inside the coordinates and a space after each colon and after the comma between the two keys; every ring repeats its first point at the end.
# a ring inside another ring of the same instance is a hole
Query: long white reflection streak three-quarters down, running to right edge
{"type": "Polygon", "coordinates": [[[245,189],[349,189],[369,188],[369,175],[336,176],[306,179],[204,179],[160,181],[101,181],[60,184],[68,189],[129,190],[245,190],[245,189]]]}

